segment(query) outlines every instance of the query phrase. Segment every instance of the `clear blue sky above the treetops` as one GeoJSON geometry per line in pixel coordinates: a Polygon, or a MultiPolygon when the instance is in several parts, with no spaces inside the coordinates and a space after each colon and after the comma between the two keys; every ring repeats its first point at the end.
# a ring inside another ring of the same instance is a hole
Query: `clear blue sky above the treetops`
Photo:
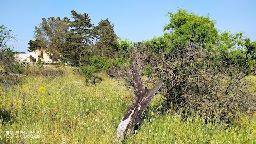
{"type": "Polygon", "coordinates": [[[1,0],[0,25],[12,30],[19,40],[9,43],[15,51],[27,52],[28,42],[34,39],[34,28],[41,23],[41,18],[68,17],[70,11],[87,13],[94,25],[101,19],[108,18],[114,23],[118,37],[132,42],[162,36],[163,26],[168,22],[168,11],[188,9],[198,15],[209,14],[220,31],[238,33],[256,41],[256,1],[78,1],[78,0],[1,0]]]}

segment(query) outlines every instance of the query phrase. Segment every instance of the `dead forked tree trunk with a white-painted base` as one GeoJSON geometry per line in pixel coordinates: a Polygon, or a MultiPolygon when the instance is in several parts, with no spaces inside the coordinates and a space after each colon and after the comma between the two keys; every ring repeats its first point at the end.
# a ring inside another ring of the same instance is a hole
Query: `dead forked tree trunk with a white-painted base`
{"type": "Polygon", "coordinates": [[[135,70],[132,70],[132,81],[135,100],[134,104],[127,110],[117,128],[117,136],[119,140],[125,138],[128,130],[134,130],[135,125],[139,122],[149,102],[164,84],[164,82],[157,82],[154,87],[149,90],[147,87],[143,86],[141,77],[135,70]]]}

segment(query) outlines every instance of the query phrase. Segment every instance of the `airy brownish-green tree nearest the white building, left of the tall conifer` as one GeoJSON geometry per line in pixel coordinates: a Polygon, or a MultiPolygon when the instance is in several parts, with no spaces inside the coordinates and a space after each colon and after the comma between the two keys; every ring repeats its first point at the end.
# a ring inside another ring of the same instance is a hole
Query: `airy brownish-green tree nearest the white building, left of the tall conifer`
{"type": "MultiPolygon", "coordinates": [[[[68,29],[67,19],[60,17],[42,18],[39,26],[35,27],[35,41],[29,41],[31,49],[44,49],[53,57],[53,61],[60,58],[61,43],[65,41],[64,34],[68,29]]],[[[30,49],[29,48],[29,49],[30,49]]],[[[30,49],[30,50],[31,50],[30,49]]]]}

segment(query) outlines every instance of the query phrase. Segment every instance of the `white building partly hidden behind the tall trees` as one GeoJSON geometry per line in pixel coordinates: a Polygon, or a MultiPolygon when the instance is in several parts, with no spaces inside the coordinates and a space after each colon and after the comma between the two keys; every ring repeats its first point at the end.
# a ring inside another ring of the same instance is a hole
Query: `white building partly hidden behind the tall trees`
{"type": "Polygon", "coordinates": [[[52,63],[52,56],[48,55],[43,50],[37,49],[29,53],[18,53],[15,54],[15,59],[20,62],[38,62],[39,59],[46,63],[52,63]]]}

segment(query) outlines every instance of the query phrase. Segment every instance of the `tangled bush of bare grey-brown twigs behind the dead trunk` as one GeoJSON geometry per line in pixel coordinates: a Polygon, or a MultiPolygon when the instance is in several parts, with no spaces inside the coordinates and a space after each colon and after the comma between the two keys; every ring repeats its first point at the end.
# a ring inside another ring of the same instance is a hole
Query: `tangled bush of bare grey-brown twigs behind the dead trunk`
{"type": "Polygon", "coordinates": [[[208,51],[182,43],[173,47],[151,60],[158,79],[165,81],[162,90],[170,107],[178,108],[185,117],[197,111],[211,121],[234,122],[239,114],[253,114],[255,97],[244,79],[253,69],[243,51],[208,51]]]}

